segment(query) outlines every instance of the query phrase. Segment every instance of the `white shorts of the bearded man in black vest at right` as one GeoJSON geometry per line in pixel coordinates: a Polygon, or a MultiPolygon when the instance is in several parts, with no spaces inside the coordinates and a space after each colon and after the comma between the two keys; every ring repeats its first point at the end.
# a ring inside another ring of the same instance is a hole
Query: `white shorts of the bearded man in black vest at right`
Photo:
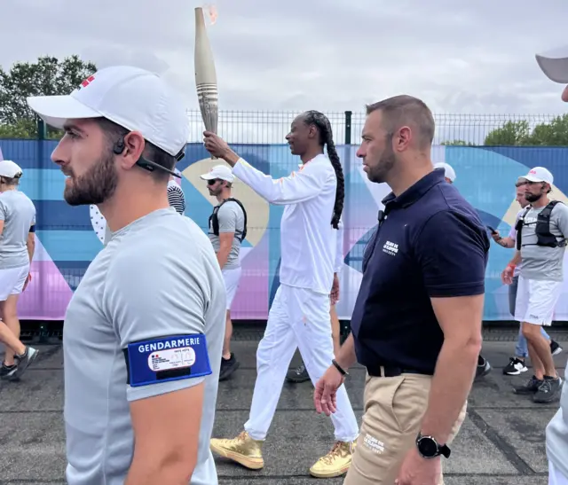
{"type": "Polygon", "coordinates": [[[552,325],[562,281],[518,277],[515,320],[533,325],[552,325]]]}

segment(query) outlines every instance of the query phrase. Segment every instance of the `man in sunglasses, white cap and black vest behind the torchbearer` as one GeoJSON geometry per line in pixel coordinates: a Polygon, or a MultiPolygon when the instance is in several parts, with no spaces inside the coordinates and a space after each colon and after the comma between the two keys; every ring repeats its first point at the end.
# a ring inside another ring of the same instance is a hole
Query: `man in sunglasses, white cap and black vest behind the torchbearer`
{"type": "Polygon", "coordinates": [[[227,379],[239,368],[239,361],[231,352],[233,323],[231,322],[231,304],[239,282],[241,281],[241,244],[247,235],[247,212],[241,201],[231,196],[234,176],[231,168],[217,165],[201,179],[207,180],[211,197],[217,198],[217,206],[209,216],[209,240],[217,254],[217,261],[225,279],[226,320],[223,356],[219,380],[227,379]]]}

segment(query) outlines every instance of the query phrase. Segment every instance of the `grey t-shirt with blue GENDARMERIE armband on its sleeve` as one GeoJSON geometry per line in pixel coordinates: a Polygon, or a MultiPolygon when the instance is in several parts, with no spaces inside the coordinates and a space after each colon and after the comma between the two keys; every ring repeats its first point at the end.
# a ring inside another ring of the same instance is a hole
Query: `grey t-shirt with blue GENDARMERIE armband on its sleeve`
{"type": "Polygon", "coordinates": [[[191,483],[217,484],[209,439],[225,299],[217,258],[189,217],[170,208],[156,210],[113,233],[85,272],[65,317],[69,485],[122,485],[134,450],[129,403],[203,381],[191,483]],[[204,376],[209,364],[212,373],[204,376]],[[179,374],[188,368],[193,375],[179,374]]]}

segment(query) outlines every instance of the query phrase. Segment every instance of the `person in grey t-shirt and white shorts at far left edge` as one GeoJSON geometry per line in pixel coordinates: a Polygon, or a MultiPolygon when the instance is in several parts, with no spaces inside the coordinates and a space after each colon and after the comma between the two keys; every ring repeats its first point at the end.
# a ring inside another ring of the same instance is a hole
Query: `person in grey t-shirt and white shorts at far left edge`
{"type": "Polygon", "coordinates": [[[0,378],[18,380],[37,357],[36,348],[20,342],[18,299],[29,281],[34,257],[36,207],[18,190],[21,168],[0,161],[0,341],[7,347],[0,378]]]}

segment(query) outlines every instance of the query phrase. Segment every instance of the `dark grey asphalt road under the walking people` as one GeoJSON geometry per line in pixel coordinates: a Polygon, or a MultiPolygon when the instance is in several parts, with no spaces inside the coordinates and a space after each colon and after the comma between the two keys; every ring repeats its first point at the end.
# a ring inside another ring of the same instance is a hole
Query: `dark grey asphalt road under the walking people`
{"type": "MultiPolygon", "coordinates": [[[[553,332],[554,334],[554,332],[553,332]]],[[[514,349],[514,334],[490,332],[484,355],[493,372],[475,383],[469,414],[445,464],[446,485],[546,485],[544,429],[558,407],[535,404],[514,395],[501,369],[514,349]]],[[[254,334],[242,334],[233,344],[241,368],[222,382],[217,403],[216,437],[241,432],[256,377],[254,334]]],[[[568,350],[566,333],[564,341],[568,350]]],[[[567,353],[556,356],[564,375],[567,353]]],[[[297,358],[297,356],[295,357],[297,358]]],[[[296,363],[295,363],[296,364],[296,363]]],[[[0,382],[0,484],[63,484],[65,435],[62,423],[63,363],[60,345],[41,346],[39,362],[20,383],[0,382]]],[[[354,369],[347,387],[360,418],[364,370],[354,369]]],[[[308,468],[332,445],[331,423],[315,413],[312,385],[286,384],[271,433],[264,446],[264,469],[250,472],[217,459],[219,483],[307,485],[317,482],[308,468]]],[[[338,485],[342,479],[325,481],[338,485]]]]}

